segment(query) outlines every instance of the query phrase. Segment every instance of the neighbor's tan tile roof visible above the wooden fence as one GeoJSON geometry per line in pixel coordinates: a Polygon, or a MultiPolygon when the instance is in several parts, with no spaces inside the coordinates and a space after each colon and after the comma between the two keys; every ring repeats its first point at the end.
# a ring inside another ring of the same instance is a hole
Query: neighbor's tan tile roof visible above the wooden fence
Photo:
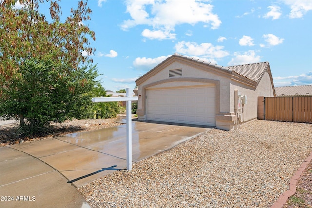
{"type": "Polygon", "coordinates": [[[312,85],[275,87],[278,97],[312,96],[312,85]]]}

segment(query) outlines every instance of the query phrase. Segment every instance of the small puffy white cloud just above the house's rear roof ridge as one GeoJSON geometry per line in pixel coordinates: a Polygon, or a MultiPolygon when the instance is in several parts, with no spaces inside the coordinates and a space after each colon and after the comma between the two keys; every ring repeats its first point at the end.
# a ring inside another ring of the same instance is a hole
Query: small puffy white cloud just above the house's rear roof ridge
{"type": "Polygon", "coordinates": [[[229,66],[257,63],[261,60],[261,57],[256,55],[253,50],[246,51],[243,54],[234,52],[234,56],[235,57],[228,63],[229,66]]]}

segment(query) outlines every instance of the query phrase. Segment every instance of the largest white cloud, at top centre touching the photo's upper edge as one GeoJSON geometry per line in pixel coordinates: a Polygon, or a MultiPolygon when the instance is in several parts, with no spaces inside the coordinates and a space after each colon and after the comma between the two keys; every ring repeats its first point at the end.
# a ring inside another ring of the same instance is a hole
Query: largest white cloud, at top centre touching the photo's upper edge
{"type": "Polygon", "coordinates": [[[218,15],[212,12],[213,6],[206,1],[127,0],[126,6],[131,19],[125,20],[121,29],[128,30],[137,25],[151,26],[153,29],[145,29],[142,32],[146,38],[172,39],[175,34],[171,31],[179,24],[195,25],[202,22],[209,24],[212,29],[221,25],[218,15]],[[167,35],[163,36],[164,34],[167,35]]]}

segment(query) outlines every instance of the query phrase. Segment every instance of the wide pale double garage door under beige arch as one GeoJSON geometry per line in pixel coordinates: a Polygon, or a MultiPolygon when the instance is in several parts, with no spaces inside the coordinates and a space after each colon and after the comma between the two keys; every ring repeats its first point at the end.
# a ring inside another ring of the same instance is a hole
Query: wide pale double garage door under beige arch
{"type": "Polygon", "coordinates": [[[147,91],[147,119],[215,126],[215,85],[147,91]]]}

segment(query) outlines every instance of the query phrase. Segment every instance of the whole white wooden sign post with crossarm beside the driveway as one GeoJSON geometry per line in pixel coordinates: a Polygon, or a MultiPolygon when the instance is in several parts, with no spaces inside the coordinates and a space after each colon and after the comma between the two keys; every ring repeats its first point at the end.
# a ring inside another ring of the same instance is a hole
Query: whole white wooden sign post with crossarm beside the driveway
{"type": "Polygon", "coordinates": [[[125,97],[94,97],[94,103],[126,101],[126,126],[127,126],[127,170],[132,169],[132,127],[131,127],[131,101],[138,100],[138,97],[129,96],[129,88],[126,89],[125,97]]]}

